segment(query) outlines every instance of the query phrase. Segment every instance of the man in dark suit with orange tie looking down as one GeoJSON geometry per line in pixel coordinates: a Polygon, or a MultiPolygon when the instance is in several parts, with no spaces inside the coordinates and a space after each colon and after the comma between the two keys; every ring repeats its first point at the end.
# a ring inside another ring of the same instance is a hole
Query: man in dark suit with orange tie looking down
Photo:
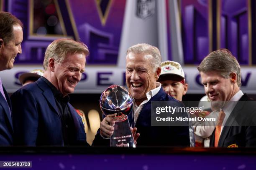
{"type": "Polygon", "coordinates": [[[210,146],[256,147],[256,102],[240,90],[241,68],[227,49],[211,52],[197,67],[211,100],[219,110],[210,146]]]}

